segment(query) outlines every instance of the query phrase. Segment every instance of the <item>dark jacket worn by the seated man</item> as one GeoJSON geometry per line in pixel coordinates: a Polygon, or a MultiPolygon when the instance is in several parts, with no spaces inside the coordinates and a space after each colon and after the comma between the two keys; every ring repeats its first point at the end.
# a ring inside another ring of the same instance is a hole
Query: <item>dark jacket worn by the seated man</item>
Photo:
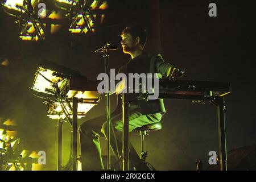
{"type": "MultiPolygon", "coordinates": [[[[172,67],[172,65],[165,63],[160,54],[151,55],[144,52],[142,55],[131,59],[127,64],[123,65],[119,69],[119,73],[125,73],[126,75],[127,73],[160,73],[160,75],[166,76],[170,67],[172,67]]],[[[161,98],[156,100],[138,100],[138,98],[136,98],[131,100],[130,104],[139,105],[143,115],[154,113],[162,113],[163,115],[166,112],[163,99],[161,98]]],[[[118,95],[117,109],[122,109],[122,101],[120,95],[118,95]]]]}

